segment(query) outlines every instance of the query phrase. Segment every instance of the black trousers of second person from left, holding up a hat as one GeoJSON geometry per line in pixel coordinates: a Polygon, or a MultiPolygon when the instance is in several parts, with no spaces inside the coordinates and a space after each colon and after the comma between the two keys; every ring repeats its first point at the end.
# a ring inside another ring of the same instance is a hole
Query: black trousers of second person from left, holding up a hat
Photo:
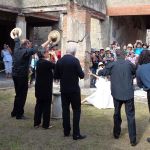
{"type": "Polygon", "coordinates": [[[37,98],[34,112],[34,126],[41,124],[43,117],[43,128],[48,128],[50,125],[50,114],[51,114],[51,102],[52,98],[37,98]]]}

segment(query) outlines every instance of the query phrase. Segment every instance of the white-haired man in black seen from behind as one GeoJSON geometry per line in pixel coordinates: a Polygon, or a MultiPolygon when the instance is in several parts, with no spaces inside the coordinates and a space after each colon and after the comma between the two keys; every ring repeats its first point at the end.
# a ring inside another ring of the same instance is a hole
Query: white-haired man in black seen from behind
{"type": "Polygon", "coordinates": [[[69,44],[64,55],[56,63],[54,78],[60,79],[61,100],[63,109],[64,136],[70,135],[70,104],[73,110],[73,139],[84,139],[80,134],[81,95],[79,78],[84,78],[80,62],[75,58],[76,47],[69,44]]]}

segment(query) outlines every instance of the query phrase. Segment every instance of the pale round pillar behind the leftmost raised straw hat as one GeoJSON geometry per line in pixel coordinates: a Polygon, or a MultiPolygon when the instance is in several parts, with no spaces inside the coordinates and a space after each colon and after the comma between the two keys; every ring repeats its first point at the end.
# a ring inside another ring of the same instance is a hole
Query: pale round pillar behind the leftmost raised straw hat
{"type": "Polygon", "coordinates": [[[19,27],[22,30],[22,35],[21,35],[20,38],[21,39],[26,38],[26,20],[25,20],[25,16],[23,16],[23,15],[18,15],[17,16],[16,27],[19,27]]]}

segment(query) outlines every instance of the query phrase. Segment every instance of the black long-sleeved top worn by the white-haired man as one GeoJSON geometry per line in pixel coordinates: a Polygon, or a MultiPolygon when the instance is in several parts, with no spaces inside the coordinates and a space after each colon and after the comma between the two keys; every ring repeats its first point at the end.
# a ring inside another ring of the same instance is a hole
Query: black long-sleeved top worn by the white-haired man
{"type": "Polygon", "coordinates": [[[54,78],[60,79],[61,93],[80,92],[79,78],[84,78],[84,72],[79,60],[72,55],[64,55],[56,63],[54,78]]]}

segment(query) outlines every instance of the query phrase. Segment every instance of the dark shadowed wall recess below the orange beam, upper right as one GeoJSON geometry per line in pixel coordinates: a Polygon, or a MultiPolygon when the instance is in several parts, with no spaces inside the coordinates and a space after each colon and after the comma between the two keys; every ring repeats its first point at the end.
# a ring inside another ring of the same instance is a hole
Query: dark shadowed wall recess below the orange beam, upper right
{"type": "Polygon", "coordinates": [[[140,16],[111,17],[110,33],[110,42],[118,41],[121,46],[135,43],[137,39],[146,41],[146,27],[140,16]]]}

